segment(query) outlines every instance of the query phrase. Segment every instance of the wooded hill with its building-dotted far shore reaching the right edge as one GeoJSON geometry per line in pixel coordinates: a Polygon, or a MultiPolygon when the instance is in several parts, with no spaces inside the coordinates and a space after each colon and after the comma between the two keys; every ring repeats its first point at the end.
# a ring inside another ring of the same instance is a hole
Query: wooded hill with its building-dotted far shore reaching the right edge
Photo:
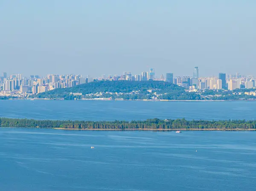
{"type": "Polygon", "coordinates": [[[255,100],[245,92],[255,89],[228,90],[187,90],[164,81],[93,81],[70,88],[55,88],[31,96],[32,99],[62,100],[255,100]]]}

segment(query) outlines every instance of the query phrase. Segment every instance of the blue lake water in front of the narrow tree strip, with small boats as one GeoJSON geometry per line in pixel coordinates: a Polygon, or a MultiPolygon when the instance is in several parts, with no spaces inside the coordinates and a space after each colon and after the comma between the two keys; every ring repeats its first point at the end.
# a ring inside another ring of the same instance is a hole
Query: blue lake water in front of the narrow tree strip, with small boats
{"type": "Polygon", "coordinates": [[[0,137],[3,191],[256,190],[256,132],[2,128],[0,137]]]}

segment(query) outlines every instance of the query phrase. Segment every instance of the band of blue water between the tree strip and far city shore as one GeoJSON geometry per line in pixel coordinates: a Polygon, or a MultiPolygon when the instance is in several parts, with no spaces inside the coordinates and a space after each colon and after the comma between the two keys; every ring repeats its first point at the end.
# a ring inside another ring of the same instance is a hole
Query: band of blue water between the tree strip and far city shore
{"type": "Polygon", "coordinates": [[[256,119],[256,101],[0,100],[0,116],[58,120],[256,119]]]}

